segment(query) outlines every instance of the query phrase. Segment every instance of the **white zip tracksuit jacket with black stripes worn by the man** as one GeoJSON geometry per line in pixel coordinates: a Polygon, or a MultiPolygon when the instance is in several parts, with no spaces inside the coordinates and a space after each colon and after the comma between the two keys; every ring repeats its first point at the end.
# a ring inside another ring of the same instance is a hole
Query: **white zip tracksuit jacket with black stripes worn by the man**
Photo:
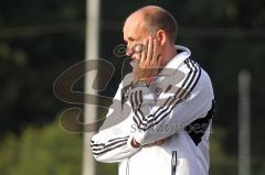
{"type": "Polygon", "coordinates": [[[118,162],[119,175],[209,174],[212,84],[188,48],[177,50],[150,87],[130,86],[131,74],[124,78],[92,138],[95,158],[118,162]],[[140,147],[131,146],[132,138],[140,147]]]}

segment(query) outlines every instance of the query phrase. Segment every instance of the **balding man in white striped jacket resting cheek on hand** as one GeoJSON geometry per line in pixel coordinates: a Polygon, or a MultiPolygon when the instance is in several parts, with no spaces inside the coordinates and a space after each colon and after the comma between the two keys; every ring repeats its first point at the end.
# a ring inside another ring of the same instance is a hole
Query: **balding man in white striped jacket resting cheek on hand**
{"type": "Polygon", "coordinates": [[[212,85],[190,51],[174,45],[176,35],[174,18],[159,7],[125,22],[132,73],[92,138],[95,158],[119,162],[119,175],[209,174],[212,85]]]}

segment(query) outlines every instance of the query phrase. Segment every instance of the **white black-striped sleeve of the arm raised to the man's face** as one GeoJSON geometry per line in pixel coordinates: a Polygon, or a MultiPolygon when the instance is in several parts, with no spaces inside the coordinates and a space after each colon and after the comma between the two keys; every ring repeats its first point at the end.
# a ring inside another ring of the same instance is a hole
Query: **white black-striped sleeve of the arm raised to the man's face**
{"type": "Polygon", "coordinates": [[[141,145],[153,143],[183,130],[192,121],[203,118],[213,100],[209,76],[195,63],[186,63],[182,80],[172,75],[163,81],[158,98],[148,87],[131,90],[130,102],[137,128],[135,140],[141,145]]]}

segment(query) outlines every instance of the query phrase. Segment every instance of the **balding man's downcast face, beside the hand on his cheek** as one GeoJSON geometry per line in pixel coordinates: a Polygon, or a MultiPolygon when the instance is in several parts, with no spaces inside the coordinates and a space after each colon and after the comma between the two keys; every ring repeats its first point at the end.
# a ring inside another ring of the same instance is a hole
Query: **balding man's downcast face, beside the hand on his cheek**
{"type": "Polygon", "coordinates": [[[129,17],[124,25],[124,41],[127,43],[126,55],[140,61],[140,53],[145,50],[144,41],[150,35],[141,17],[129,17]]]}

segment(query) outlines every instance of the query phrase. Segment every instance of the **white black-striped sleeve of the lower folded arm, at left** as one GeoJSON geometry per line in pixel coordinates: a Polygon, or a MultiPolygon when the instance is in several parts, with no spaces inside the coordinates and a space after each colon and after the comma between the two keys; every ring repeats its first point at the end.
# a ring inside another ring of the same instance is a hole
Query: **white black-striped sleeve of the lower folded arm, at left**
{"type": "Polygon", "coordinates": [[[124,117],[125,114],[128,116],[128,113],[123,113],[121,110],[121,88],[123,85],[120,84],[104,124],[91,140],[93,155],[99,162],[120,162],[137,151],[130,145],[129,127],[127,129],[123,127],[128,122],[124,117]]]}

